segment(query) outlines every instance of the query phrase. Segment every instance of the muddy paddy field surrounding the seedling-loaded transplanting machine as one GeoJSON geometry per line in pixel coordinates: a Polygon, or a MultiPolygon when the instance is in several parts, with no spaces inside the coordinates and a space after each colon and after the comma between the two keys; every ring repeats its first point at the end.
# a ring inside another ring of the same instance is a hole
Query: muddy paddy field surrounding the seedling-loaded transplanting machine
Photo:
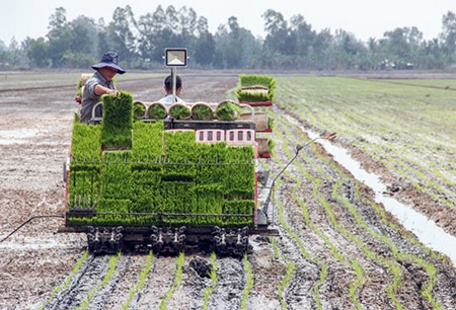
{"type": "MultiPolygon", "coordinates": [[[[117,85],[153,101],[166,74],[117,85]]],[[[237,73],[181,76],[187,102],[233,99],[238,83],[237,73]]],[[[64,212],[79,74],[0,77],[1,240],[33,216],[64,212]]],[[[0,242],[0,309],[456,308],[456,83],[372,77],[277,75],[274,106],[262,111],[274,118],[275,147],[262,168],[273,178],[297,145],[325,130],[338,138],[302,149],[277,178],[269,215],[279,236],[252,236],[248,256],[94,257],[84,235],[56,233],[61,218],[37,218],[0,242]]]]}

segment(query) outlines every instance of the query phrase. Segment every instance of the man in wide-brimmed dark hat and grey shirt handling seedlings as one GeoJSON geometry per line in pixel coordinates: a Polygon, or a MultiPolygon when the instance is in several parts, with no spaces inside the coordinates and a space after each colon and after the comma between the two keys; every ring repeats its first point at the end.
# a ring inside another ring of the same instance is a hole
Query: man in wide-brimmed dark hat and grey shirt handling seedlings
{"type": "MultiPolygon", "coordinates": [[[[119,58],[117,53],[108,52],[103,55],[100,63],[92,66],[96,70],[89,78],[82,91],[81,114],[79,121],[88,123],[92,118],[93,107],[101,101],[104,94],[116,95],[117,90],[113,78],[118,74],[124,74],[126,71],[119,67],[119,58]]],[[[96,116],[101,116],[102,109],[96,111],[96,116]]]]}

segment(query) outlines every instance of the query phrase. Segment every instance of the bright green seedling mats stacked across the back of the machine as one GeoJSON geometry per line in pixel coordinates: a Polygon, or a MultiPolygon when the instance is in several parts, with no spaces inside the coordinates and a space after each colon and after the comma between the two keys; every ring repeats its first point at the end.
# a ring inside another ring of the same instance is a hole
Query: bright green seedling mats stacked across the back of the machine
{"type": "Polygon", "coordinates": [[[253,224],[253,147],[199,144],[163,122],[103,126],[74,124],[70,225],[253,224]]]}

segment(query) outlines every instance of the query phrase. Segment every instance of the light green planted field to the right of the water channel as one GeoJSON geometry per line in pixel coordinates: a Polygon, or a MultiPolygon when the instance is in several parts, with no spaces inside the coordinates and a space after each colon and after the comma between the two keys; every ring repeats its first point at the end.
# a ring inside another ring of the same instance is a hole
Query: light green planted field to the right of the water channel
{"type": "Polygon", "coordinates": [[[306,82],[313,86],[302,95],[312,109],[291,104],[287,110],[306,115],[305,119],[317,127],[329,126],[344,132],[364,152],[417,190],[452,208],[456,196],[451,182],[455,170],[447,160],[453,144],[448,130],[452,121],[448,92],[397,85],[385,91],[380,82],[347,79],[324,83],[325,88],[331,84],[333,89],[322,92],[322,81],[306,82]],[[344,87],[337,86],[341,83],[344,87]],[[347,85],[351,87],[348,90],[347,85]],[[357,91],[351,91],[355,88],[357,91]]]}

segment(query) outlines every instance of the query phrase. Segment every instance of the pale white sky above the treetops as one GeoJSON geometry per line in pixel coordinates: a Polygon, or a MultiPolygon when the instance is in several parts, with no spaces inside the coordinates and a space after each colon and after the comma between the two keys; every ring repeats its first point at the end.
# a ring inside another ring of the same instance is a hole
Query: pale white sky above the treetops
{"type": "Polygon", "coordinates": [[[192,8],[198,17],[208,20],[213,34],[219,25],[226,25],[232,16],[242,28],[254,36],[265,37],[264,19],[268,9],[281,13],[286,21],[302,15],[317,32],[328,28],[352,33],[362,41],[380,39],[386,31],[398,27],[417,27],[424,39],[437,38],[442,32],[442,17],[448,11],[456,13],[456,0],[1,0],[0,40],[7,46],[14,37],[19,43],[26,37],[37,39],[48,33],[49,18],[55,9],[66,9],[67,21],[80,15],[108,24],[117,7],[130,5],[134,16],[153,13],[158,5],[166,9],[173,5],[192,8]]]}

